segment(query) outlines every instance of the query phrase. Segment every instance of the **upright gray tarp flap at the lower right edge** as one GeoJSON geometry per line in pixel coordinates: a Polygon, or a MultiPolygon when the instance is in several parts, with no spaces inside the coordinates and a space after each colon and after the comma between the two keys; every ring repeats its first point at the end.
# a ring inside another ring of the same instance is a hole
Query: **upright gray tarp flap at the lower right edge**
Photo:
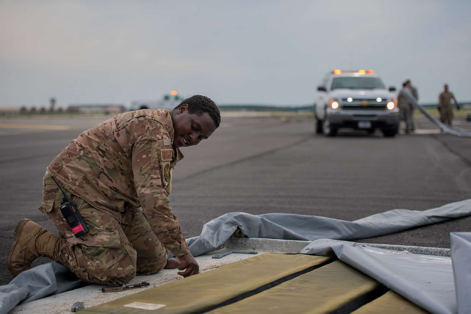
{"type": "Polygon", "coordinates": [[[452,232],[451,259],[455,276],[458,314],[471,313],[471,232],[452,232]]]}

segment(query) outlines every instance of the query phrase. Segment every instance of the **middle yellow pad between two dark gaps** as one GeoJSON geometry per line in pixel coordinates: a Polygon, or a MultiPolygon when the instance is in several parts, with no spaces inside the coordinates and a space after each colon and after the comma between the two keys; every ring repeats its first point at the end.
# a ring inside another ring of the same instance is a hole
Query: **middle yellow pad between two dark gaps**
{"type": "Polygon", "coordinates": [[[331,313],[379,286],[355,268],[335,261],[208,313],[331,313]]]}

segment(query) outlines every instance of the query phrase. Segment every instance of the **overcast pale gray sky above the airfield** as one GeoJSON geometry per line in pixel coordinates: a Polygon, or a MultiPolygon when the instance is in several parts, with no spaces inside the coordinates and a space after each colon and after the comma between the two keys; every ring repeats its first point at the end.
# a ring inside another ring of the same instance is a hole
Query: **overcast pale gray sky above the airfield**
{"type": "Polygon", "coordinates": [[[0,106],[309,104],[335,68],[471,100],[470,1],[176,2],[0,1],[0,106]]]}

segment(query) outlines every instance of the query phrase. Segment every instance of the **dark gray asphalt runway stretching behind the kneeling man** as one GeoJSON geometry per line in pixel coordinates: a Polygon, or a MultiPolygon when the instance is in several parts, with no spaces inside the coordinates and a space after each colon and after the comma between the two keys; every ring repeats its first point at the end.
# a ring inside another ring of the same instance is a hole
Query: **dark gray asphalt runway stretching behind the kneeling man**
{"type": "MultiPolygon", "coordinates": [[[[417,134],[385,138],[354,131],[316,136],[312,118],[247,115],[223,114],[211,138],[182,149],[170,199],[186,237],[232,211],[355,220],[471,197],[471,138],[439,134],[422,116],[415,117],[417,134]]],[[[0,284],[12,279],[5,262],[18,220],[57,232],[37,209],[46,167],[82,130],[104,120],[0,120],[0,284]]],[[[471,129],[470,122],[457,123],[471,129]]],[[[471,217],[359,241],[448,248],[453,231],[471,231],[471,217]]]]}

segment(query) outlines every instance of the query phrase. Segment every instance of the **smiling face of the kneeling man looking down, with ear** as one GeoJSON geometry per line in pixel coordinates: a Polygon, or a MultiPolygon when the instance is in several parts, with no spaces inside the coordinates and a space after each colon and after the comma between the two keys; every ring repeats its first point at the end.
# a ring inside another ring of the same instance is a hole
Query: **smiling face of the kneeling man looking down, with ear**
{"type": "Polygon", "coordinates": [[[181,105],[173,111],[172,116],[173,147],[193,146],[211,136],[216,130],[216,125],[212,121],[209,113],[202,115],[188,113],[188,105],[181,105]]]}

